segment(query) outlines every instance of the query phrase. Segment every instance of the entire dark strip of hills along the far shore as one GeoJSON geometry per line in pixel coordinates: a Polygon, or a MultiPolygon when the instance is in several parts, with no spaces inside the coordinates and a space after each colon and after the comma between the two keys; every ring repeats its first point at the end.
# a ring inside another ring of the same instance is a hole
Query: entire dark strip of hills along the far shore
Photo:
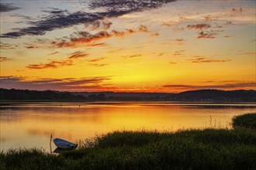
{"type": "Polygon", "coordinates": [[[192,90],[182,93],[115,93],[0,89],[0,100],[256,102],[256,91],[192,90]]]}

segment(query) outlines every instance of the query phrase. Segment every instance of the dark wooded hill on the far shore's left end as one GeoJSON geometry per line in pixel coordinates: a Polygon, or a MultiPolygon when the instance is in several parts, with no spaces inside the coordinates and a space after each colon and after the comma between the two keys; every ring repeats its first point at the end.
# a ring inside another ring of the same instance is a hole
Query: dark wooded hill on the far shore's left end
{"type": "Polygon", "coordinates": [[[0,100],[85,100],[69,92],[0,89],[0,100]]]}

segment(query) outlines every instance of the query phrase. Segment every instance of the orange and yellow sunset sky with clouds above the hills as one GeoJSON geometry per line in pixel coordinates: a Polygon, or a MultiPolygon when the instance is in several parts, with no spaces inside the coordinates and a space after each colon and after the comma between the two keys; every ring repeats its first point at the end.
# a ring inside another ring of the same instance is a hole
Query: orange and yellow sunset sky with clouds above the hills
{"type": "Polygon", "coordinates": [[[256,90],[254,0],[1,0],[0,87],[256,90]]]}

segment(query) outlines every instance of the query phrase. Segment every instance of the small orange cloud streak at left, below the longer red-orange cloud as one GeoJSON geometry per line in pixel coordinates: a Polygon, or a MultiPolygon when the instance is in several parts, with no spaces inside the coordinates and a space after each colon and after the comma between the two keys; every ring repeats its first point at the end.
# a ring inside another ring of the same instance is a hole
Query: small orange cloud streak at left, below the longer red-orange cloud
{"type": "Polygon", "coordinates": [[[71,56],[67,57],[67,59],[53,60],[53,61],[50,61],[49,63],[30,64],[29,66],[26,66],[26,68],[32,69],[32,70],[41,70],[41,69],[49,69],[49,68],[58,68],[61,66],[73,66],[74,59],[85,58],[86,56],[88,56],[87,53],[77,51],[75,53],[72,53],[71,56]]]}

